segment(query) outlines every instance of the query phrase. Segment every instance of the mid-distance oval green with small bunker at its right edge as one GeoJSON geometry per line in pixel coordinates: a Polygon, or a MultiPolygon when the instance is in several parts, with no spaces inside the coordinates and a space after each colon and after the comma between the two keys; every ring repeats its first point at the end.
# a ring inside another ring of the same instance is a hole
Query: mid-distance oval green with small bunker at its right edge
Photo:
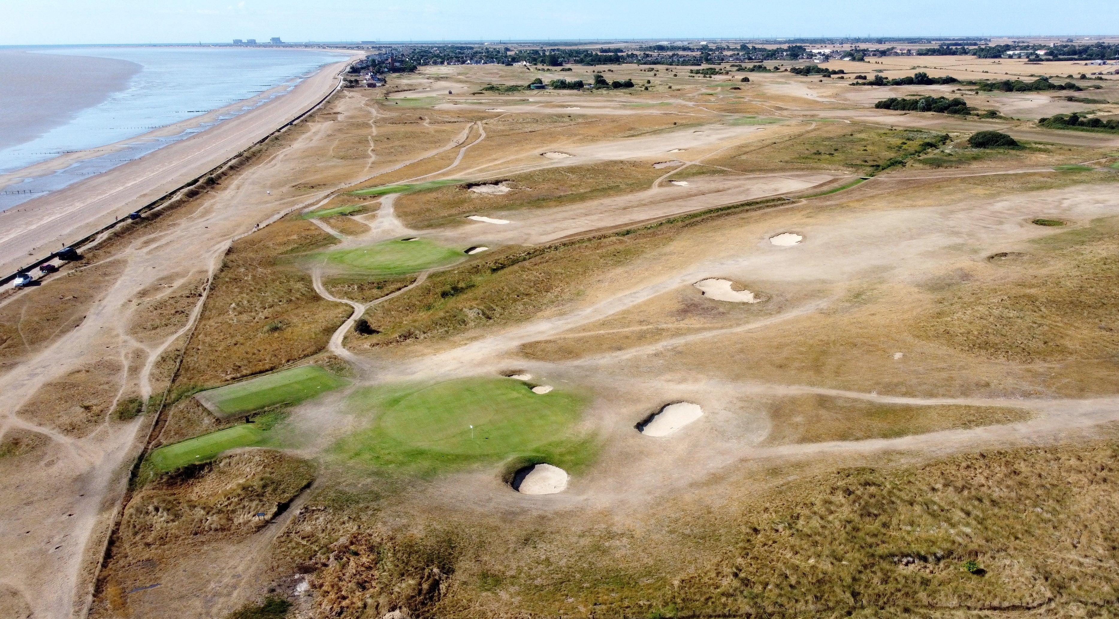
{"type": "Polygon", "coordinates": [[[417,238],[415,241],[385,241],[352,250],[320,252],[312,254],[311,257],[321,261],[327,266],[350,272],[373,275],[404,275],[451,264],[464,260],[466,255],[459,250],[443,247],[431,241],[417,238]]]}

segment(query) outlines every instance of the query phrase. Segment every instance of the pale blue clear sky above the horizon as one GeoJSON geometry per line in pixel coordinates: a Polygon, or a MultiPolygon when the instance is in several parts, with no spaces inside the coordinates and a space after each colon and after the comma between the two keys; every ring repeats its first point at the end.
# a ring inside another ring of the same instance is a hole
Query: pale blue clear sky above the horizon
{"type": "Polygon", "coordinates": [[[23,0],[0,45],[1107,35],[1119,2],[1036,0],[23,0]],[[1101,31],[1101,29],[1107,29],[1101,31]]]}

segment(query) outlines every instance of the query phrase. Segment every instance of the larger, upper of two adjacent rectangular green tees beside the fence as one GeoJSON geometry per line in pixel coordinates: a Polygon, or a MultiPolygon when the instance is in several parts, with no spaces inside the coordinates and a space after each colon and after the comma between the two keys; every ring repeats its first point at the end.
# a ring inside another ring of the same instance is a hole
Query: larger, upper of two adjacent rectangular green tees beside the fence
{"type": "Polygon", "coordinates": [[[195,400],[225,420],[276,404],[297,404],[347,383],[317,365],[303,365],[204,391],[195,400]]]}

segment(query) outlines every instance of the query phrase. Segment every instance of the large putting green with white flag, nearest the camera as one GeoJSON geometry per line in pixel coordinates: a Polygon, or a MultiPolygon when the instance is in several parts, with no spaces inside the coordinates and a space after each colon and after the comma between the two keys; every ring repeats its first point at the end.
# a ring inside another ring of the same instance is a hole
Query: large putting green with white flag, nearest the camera
{"type": "Polygon", "coordinates": [[[433,472],[518,458],[570,470],[596,450],[593,440],[572,430],[585,406],[583,396],[561,388],[535,394],[510,378],[374,387],[355,394],[352,405],[377,418],[372,428],[340,441],[337,453],[378,467],[433,472]]]}

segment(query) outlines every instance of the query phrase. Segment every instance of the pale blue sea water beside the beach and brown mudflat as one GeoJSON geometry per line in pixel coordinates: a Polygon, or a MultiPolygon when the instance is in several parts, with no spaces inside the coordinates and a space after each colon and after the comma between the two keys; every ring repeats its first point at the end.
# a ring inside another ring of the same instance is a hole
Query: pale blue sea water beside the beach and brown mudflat
{"type": "MultiPolygon", "coordinates": [[[[141,68],[123,90],[110,94],[102,103],[76,113],[66,112],[69,120],[59,119],[49,123],[55,126],[43,134],[0,150],[0,173],[62,153],[128,140],[286,84],[288,88],[276,95],[282,96],[322,65],[347,57],[330,51],[275,48],[66,47],[28,50],[35,54],[115,58],[135,63],[141,68]]],[[[59,78],[65,79],[65,76],[44,76],[44,84],[59,78]]],[[[261,103],[253,101],[252,105],[261,103]]],[[[220,116],[217,122],[243,113],[252,105],[243,105],[232,114],[220,116]]],[[[0,209],[104,172],[214,124],[206,123],[179,135],[138,140],[123,151],[86,159],[48,176],[26,178],[0,191],[0,209]]]]}

